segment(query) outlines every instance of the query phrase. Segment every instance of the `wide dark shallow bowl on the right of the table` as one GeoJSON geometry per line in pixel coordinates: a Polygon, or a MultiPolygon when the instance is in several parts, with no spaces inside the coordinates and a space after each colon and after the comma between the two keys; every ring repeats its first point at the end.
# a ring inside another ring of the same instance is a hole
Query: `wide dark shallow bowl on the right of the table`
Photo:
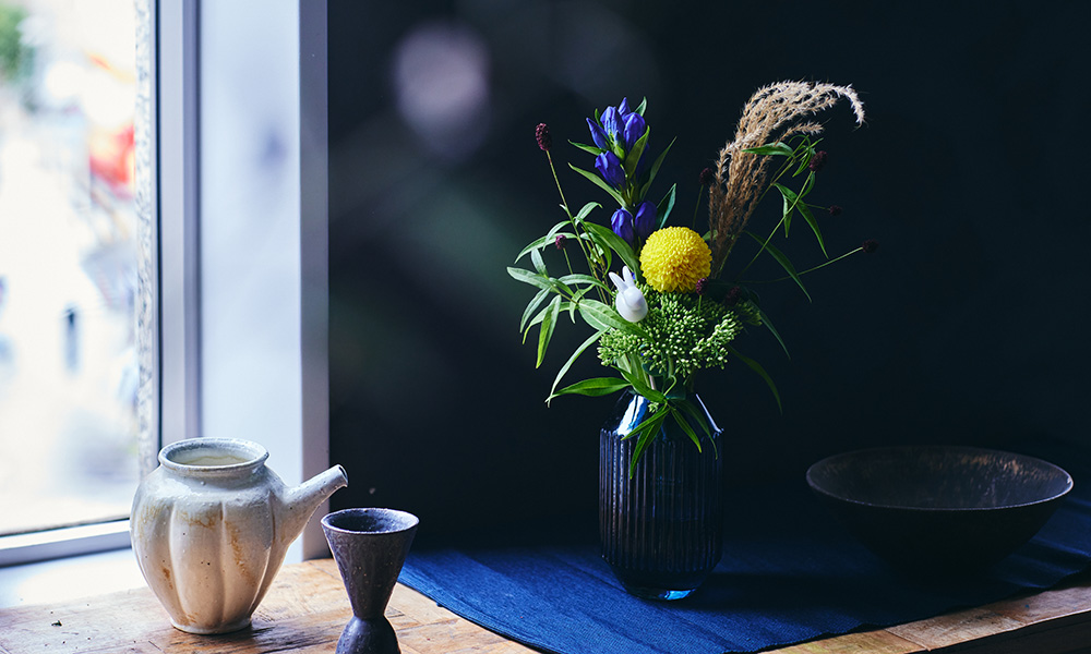
{"type": "Polygon", "coordinates": [[[872,552],[913,572],[973,572],[1029,541],[1072,488],[1060,468],[954,446],[859,450],[824,459],[807,483],[872,552]]]}

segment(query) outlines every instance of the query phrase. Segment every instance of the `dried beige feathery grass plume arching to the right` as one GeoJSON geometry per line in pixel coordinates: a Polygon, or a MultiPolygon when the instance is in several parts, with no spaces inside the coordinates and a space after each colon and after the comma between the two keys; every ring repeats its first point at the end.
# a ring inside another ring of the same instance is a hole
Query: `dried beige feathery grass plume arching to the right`
{"type": "Polygon", "coordinates": [[[864,123],[864,105],[849,86],[817,82],[778,82],[764,86],[743,107],[734,141],[723,149],[716,162],[716,181],[709,189],[708,221],[714,234],[712,270],[719,272],[728,253],[750,220],[769,175],[769,156],[744,153],[795,134],[818,134],[822,124],[796,122],[837,104],[849,101],[856,125],[864,123]],[[783,129],[780,134],[776,132],[783,129]]]}

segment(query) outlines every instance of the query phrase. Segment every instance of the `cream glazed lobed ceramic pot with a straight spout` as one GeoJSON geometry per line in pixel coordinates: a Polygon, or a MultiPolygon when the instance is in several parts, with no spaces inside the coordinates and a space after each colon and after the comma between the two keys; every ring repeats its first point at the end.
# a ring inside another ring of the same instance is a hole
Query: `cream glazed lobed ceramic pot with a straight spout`
{"type": "Polygon", "coordinates": [[[265,467],[264,447],[191,438],[159,452],[133,498],[133,552],[176,628],[226,633],[250,616],[280,569],[288,545],[335,491],[334,465],[289,488],[265,467]]]}

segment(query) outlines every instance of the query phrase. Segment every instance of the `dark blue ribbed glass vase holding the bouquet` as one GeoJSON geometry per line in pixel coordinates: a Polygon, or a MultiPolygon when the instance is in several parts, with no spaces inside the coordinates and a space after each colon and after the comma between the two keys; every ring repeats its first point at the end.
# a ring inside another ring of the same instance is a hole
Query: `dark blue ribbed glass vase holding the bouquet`
{"type": "Polygon", "coordinates": [[[720,560],[722,431],[699,397],[691,393],[688,399],[711,427],[709,439],[691,423],[702,438],[702,451],[668,417],[631,476],[637,438],[625,436],[650,408],[646,398],[632,391],[621,398],[599,433],[602,558],[625,590],[638,597],[685,597],[720,560]]]}

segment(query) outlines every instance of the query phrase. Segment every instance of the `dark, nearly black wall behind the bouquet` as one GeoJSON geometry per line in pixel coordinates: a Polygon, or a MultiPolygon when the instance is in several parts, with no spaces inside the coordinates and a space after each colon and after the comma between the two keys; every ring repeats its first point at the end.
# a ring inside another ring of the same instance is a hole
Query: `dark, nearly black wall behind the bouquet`
{"type": "MultiPolygon", "coordinates": [[[[647,96],[652,146],[678,137],[652,195],[676,181],[686,216],[746,98],[788,78],[861,93],[863,129],[843,105],[820,117],[813,199],[844,207],[824,221],[831,254],[882,246],[811,276],[814,303],[764,291],[792,358],[764,331],[739,346],[783,413],[742,366],[700,379],[731,483],[886,443],[1083,439],[1080,3],[956,4],[976,3],[332,0],[332,457],[352,480],[337,501],[437,532],[592,514],[613,400],[546,407],[586,327],[562,324],[535,370],[518,332],[532,290],[505,274],[561,218],[533,128],[551,126],[568,202],[609,206],[566,141],[588,141],[596,107],[647,96]]],[[[818,261],[805,230],[789,251],[818,261]]],[[[602,372],[584,364],[572,380],[602,372]]]]}

